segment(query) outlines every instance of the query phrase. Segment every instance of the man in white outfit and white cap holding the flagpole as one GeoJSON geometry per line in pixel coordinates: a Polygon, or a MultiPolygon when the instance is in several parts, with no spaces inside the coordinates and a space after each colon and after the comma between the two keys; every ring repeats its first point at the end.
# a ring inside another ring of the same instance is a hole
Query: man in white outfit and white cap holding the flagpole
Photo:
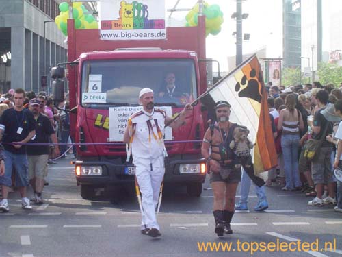
{"type": "MultiPolygon", "coordinates": [[[[135,165],[137,183],[142,193],[142,234],[161,236],[155,208],[165,173],[164,157],[166,149],[163,142],[165,124],[172,119],[163,110],[154,108],[153,90],[143,88],[139,93],[139,103],[143,110],[133,114],[124,133],[124,143],[129,144],[135,165]]],[[[177,128],[185,124],[185,117],[192,113],[192,106],[187,104],[179,119],[170,123],[177,128]]]]}

